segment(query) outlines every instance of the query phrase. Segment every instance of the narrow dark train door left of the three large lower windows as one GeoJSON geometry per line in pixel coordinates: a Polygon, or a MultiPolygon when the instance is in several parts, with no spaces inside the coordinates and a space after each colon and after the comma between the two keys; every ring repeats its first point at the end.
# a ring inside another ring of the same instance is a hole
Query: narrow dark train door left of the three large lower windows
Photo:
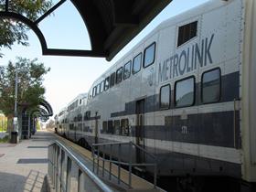
{"type": "MultiPolygon", "coordinates": [[[[136,144],[144,148],[144,100],[136,101],[136,144]]],[[[136,150],[137,163],[144,162],[144,153],[142,150],[136,150]]]]}

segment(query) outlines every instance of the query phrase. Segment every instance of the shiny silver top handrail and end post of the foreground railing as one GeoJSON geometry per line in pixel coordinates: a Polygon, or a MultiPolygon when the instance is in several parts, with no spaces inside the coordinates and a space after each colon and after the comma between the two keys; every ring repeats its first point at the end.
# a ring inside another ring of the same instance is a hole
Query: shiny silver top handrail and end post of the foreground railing
{"type": "MultiPolygon", "coordinates": [[[[69,158],[74,161],[81,169],[81,171],[83,173],[85,173],[87,176],[89,176],[89,178],[91,179],[91,181],[95,184],[95,187],[98,187],[101,191],[106,191],[106,192],[112,192],[112,189],[110,187],[107,187],[98,176],[95,176],[94,173],[91,172],[91,170],[86,167],[86,165],[84,165],[80,159],[78,159],[75,155],[73,155],[73,153],[64,145],[61,144],[59,141],[55,141],[53,144],[50,144],[48,147],[57,144],[59,145],[59,147],[61,148],[61,150],[63,150],[66,155],[69,156],[69,158]]],[[[48,152],[49,155],[49,152],[48,152]]],[[[50,156],[53,157],[53,156],[50,156]]],[[[52,159],[48,159],[48,162],[53,165],[54,171],[57,171],[58,173],[58,167],[57,165],[54,165],[54,162],[52,161],[52,159]]],[[[61,175],[60,175],[61,176],[61,175]]],[[[54,178],[56,179],[56,178],[54,178]]],[[[62,181],[60,180],[60,183],[62,184],[62,181]]],[[[63,190],[63,189],[62,189],[63,190]]],[[[64,189],[63,191],[66,191],[66,189],[64,189]]]]}

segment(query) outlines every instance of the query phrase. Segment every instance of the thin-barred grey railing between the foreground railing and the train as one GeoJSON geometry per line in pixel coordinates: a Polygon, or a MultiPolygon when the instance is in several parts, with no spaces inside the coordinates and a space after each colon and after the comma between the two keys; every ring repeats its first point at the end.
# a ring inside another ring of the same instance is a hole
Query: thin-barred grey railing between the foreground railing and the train
{"type": "Polygon", "coordinates": [[[155,155],[150,154],[147,152],[143,147],[133,144],[133,142],[126,142],[126,143],[105,143],[105,144],[92,144],[91,147],[91,155],[93,158],[93,168],[92,171],[95,172],[95,160],[97,160],[97,169],[96,173],[99,175],[99,167],[101,167],[101,174],[104,177],[105,172],[109,172],[109,180],[112,180],[112,164],[115,164],[118,166],[118,171],[117,171],[117,182],[118,185],[120,185],[121,181],[127,185],[129,188],[132,188],[132,170],[133,167],[139,167],[139,166],[152,166],[154,167],[154,188],[156,187],[156,177],[157,177],[157,163],[156,163],[156,158],[155,155]],[[127,154],[129,154],[129,159],[127,162],[123,162],[121,160],[121,155],[122,155],[122,148],[123,145],[128,145],[128,151],[126,151],[127,154]],[[116,147],[115,150],[117,153],[113,155],[113,148],[116,147]],[[105,149],[109,147],[109,153],[106,153],[105,149]],[[103,148],[103,150],[102,150],[103,148]],[[155,163],[133,163],[133,155],[135,150],[140,150],[140,152],[144,153],[144,155],[150,156],[155,163]],[[108,156],[108,158],[106,157],[108,156]],[[114,160],[113,158],[117,158],[118,160],[114,160]],[[101,160],[101,165],[100,165],[100,160],[101,160]],[[105,162],[109,162],[109,167],[108,170],[105,170],[105,162]],[[125,180],[121,180],[121,165],[126,165],[128,166],[128,183],[125,180]]]}

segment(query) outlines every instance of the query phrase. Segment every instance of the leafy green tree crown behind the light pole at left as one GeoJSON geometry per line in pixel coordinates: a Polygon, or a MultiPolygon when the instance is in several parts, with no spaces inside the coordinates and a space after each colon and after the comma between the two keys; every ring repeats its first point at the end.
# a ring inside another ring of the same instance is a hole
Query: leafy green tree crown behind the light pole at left
{"type": "Polygon", "coordinates": [[[37,59],[16,58],[16,63],[9,61],[8,66],[0,72],[0,109],[8,117],[12,117],[14,112],[16,70],[19,81],[18,112],[24,107],[36,108],[44,99],[43,75],[49,71],[37,59]]]}

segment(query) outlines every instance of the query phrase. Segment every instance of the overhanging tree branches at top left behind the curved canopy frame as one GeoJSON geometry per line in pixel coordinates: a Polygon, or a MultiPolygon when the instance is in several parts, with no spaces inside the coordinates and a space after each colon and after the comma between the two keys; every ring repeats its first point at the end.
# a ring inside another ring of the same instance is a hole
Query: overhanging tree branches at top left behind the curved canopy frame
{"type": "MultiPolygon", "coordinates": [[[[52,0],[9,0],[9,10],[35,21],[48,11],[52,0]]],[[[5,10],[5,0],[0,0],[0,11],[5,10]]],[[[0,18],[0,50],[11,48],[14,43],[27,46],[28,27],[21,22],[0,18]]],[[[0,53],[0,57],[3,54],[0,53]]]]}

